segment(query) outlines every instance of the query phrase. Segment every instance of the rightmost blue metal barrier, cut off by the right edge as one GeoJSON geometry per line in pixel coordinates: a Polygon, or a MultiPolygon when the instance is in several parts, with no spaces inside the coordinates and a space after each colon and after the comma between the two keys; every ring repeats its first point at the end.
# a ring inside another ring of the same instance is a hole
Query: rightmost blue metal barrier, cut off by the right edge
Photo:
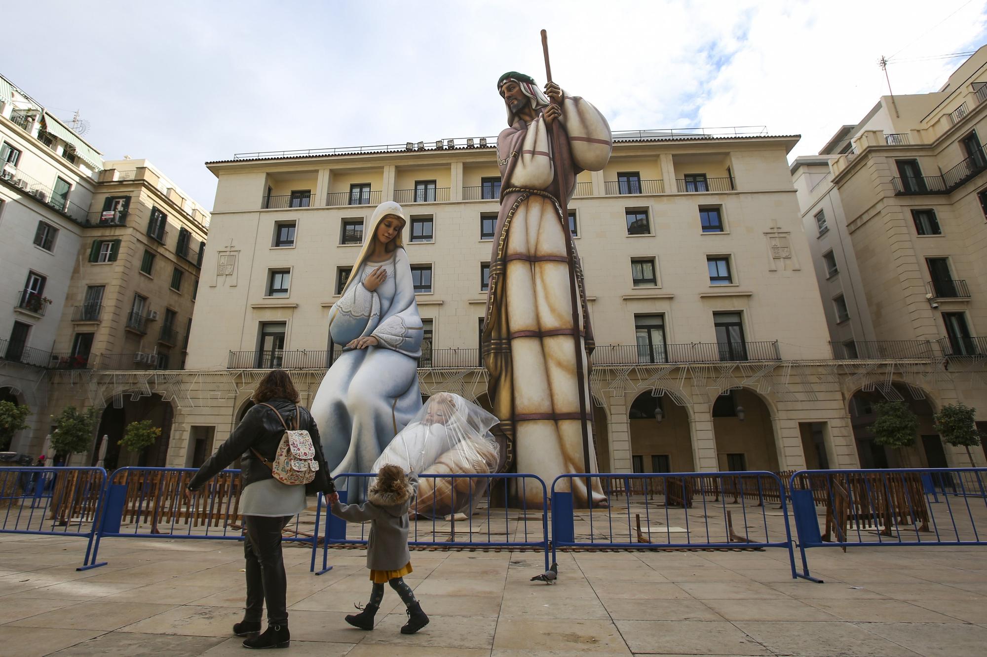
{"type": "Polygon", "coordinates": [[[799,577],[808,547],[987,545],[987,468],[803,470],[789,486],[799,577]]]}

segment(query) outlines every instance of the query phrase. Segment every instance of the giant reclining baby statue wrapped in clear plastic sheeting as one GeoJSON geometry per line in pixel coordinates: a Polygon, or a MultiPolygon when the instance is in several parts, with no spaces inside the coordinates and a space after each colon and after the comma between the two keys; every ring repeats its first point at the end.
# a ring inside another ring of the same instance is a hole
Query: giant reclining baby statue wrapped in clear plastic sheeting
{"type": "Polygon", "coordinates": [[[490,478],[448,475],[497,472],[502,454],[490,432],[497,421],[475,403],[458,395],[438,393],[395,436],[373,470],[392,464],[406,472],[422,474],[413,509],[420,516],[441,518],[469,513],[483,497],[490,478]]]}

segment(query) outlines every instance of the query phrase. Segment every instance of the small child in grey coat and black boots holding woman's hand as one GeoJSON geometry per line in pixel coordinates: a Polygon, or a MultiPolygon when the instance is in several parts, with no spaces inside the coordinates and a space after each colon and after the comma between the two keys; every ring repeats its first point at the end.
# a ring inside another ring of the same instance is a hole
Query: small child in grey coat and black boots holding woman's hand
{"type": "MultiPolygon", "coordinates": [[[[330,495],[333,515],[350,522],[370,521],[367,540],[367,567],[373,589],[370,602],[359,614],[350,614],[346,622],[360,629],[373,629],[373,617],[384,599],[384,582],[398,592],[408,607],[408,622],[402,634],[414,634],[428,624],[412,589],[404,576],[412,572],[412,555],[408,549],[408,508],[418,489],[418,476],[405,475],[400,466],[386,465],[370,484],[363,504],[340,504],[340,496],[330,495]]],[[[356,609],[360,609],[357,606],[356,609]]]]}

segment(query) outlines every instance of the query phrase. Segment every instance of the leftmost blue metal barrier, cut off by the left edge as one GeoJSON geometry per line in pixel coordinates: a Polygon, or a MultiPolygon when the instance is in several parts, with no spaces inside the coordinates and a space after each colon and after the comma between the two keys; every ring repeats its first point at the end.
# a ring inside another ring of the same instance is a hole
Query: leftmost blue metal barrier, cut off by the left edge
{"type": "Polygon", "coordinates": [[[87,538],[78,570],[103,565],[93,543],[106,481],[102,468],[0,468],[0,532],[87,538]]]}

